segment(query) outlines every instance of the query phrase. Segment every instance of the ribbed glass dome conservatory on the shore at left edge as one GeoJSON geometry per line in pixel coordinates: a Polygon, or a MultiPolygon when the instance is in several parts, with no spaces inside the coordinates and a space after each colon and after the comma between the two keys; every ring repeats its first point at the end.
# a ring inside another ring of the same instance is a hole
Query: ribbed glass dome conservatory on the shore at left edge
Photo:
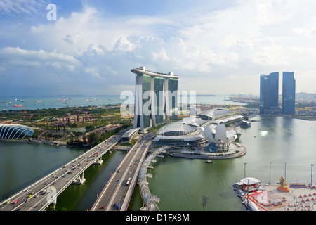
{"type": "Polygon", "coordinates": [[[23,139],[34,134],[32,127],[20,124],[0,124],[0,139],[23,139]]]}

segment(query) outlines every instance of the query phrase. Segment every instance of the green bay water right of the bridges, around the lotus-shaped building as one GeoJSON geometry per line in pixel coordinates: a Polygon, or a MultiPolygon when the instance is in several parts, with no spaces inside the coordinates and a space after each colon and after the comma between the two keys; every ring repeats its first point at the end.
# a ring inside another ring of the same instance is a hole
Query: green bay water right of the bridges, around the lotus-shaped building
{"type": "MultiPolygon", "coordinates": [[[[157,158],[151,169],[150,191],[159,195],[161,210],[203,210],[202,197],[209,197],[205,210],[246,210],[232,184],[246,176],[277,183],[286,172],[287,182],[310,182],[310,163],[316,165],[316,121],[287,117],[258,117],[251,128],[242,131],[246,155],[231,160],[187,160],[157,158]],[[256,137],[254,137],[256,136],[256,137]],[[285,164],[286,169],[285,169],[285,164]]],[[[314,168],[315,169],[315,168],[314,168]]],[[[315,171],[314,171],[315,174],[315,171]]],[[[313,178],[313,183],[316,176],[313,178]]],[[[140,198],[140,195],[134,195],[140,198]]],[[[139,205],[130,205],[138,210],[139,205]]]]}

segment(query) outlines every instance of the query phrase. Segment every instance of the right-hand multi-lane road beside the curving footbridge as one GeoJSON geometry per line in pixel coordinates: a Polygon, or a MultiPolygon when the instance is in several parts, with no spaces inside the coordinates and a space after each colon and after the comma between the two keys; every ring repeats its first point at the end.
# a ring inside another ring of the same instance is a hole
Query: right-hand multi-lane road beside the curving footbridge
{"type": "Polygon", "coordinates": [[[117,211],[126,210],[129,198],[136,184],[140,163],[145,158],[148,148],[152,143],[152,135],[140,136],[136,144],[129,150],[117,171],[112,174],[110,180],[91,207],[93,211],[117,211]],[[128,183],[129,181],[129,183],[128,183]]]}

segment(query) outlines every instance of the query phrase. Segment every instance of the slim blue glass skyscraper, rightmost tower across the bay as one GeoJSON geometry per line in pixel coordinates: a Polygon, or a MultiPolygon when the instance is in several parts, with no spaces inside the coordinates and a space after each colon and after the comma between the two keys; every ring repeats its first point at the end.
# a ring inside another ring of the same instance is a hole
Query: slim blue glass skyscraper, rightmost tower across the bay
{"type": "Polygon", "coordinates": [[[283,72],[282,78],[282,112],[295,113],[295,86],[294,72],[283,72]]]}

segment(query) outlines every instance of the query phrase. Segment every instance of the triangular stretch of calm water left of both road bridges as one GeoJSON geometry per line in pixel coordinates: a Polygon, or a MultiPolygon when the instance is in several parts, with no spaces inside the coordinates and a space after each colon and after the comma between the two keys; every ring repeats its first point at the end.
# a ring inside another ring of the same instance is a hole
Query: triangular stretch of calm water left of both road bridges
{"type": "Polygon", "coordinates": [[[0,141],[0,200],[82,153],[83,148],[0,141]]]}

